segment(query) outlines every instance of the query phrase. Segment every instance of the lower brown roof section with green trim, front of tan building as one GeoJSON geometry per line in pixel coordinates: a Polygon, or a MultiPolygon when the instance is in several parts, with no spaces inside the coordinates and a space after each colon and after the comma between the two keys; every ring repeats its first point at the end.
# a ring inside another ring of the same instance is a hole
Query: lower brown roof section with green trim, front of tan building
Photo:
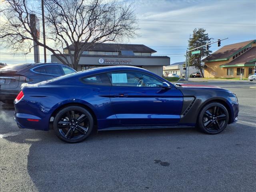
{"type": "Polygon", "coordinates": [[[229,63],[225,63],[221,65],[221,67],[228,67],[228,66],[234,66],[234,65],[244,65],[244,64],[253,64],[256,62],[256,47],[250,48],[248,51],[246,51],[244,54],[241,54],[234,60],[230,61],[229,63]]]}

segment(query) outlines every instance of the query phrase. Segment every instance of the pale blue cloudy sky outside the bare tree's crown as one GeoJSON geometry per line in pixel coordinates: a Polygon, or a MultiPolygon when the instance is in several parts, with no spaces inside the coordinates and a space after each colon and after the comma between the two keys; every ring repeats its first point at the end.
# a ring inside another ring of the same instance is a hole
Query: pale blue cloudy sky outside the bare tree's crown
{"type": "MultiPolygon", "coordinates": [[[[228,38],[221,46],[256,39],[256,0],[136,0],[139,36],[120,43],[144,44],[169,56],[170,64],[185,60],[188,39],[195,28],[204,28],[212,41],[228,38]]],[[[217,44],[210,48],[218,50],[217,44]]],[[[43,50],[40,49],[43,62],[43,50]]],[[[50,62],[47,52],[47,62],[50,62]]],[[[0,48],[0,62],[18,64],[34,62],[33,52],[26,56],[0,48]]]]}

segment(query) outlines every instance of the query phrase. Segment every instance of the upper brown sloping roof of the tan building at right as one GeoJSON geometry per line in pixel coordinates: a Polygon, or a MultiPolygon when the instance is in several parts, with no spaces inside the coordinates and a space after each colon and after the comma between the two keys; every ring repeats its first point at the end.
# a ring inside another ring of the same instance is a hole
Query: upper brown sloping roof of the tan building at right
{"type": "Polygon", "coordinates": [[[206,57],[204,61],[228,60],[234,54],[242,50],[245,46],[252,44],[254,42],[256,42],[256,40],[244,41],[240,43],[223,46],[216,52],[212,53],[210,56],[206,57]]]}

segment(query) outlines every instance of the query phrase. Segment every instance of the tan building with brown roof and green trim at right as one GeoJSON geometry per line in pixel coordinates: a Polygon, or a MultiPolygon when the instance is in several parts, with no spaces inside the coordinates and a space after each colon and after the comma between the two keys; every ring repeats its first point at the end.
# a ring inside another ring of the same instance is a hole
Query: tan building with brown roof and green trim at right
{"type": "Polygon", "coordinates": [[[256,40],[223,46],[203,61],[206,78],[248,78],[255,72],[256,40]]]}

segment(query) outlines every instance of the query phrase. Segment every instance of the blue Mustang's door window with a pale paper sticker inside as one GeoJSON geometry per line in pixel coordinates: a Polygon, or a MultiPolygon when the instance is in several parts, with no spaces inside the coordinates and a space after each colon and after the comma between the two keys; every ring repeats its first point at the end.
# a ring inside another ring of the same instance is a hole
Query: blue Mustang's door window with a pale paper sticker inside
{"type": "Polygon", "coordinates": [[[113,86],[157,87],[163,84],[161,80],[150,74],[136,71],[108,73],[108,77],[113,86]]]}

